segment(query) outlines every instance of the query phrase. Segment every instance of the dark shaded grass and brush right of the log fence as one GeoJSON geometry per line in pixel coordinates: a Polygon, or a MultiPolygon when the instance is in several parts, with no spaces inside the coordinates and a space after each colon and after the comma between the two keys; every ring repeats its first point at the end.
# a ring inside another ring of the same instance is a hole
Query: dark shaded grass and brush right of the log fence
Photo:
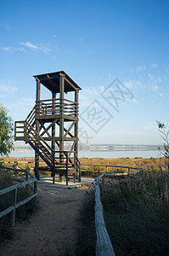
{"type": "Polygon", "coordinates": [[[145,171],[103,191],[104,219],[116,255],[169,255],[169,173],[145,171]]]}

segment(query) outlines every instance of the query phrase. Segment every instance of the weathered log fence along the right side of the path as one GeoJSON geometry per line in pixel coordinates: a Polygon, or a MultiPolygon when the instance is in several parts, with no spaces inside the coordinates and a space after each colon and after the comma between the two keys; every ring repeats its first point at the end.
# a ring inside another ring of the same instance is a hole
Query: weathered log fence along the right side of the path
{"type": "Polygon", "coordinates": [[[128,166],[111,166],[111,167],[122,167],[128,168],[128,173],[102,173],[95,179],[95,228],[96,228],[96,255],[98,256],[115,256],[115,252],[113,250],[113,246],[110,241],[110,236],[106,229],[104,223],[104,213],[103,206],[100,199],[100,188],[99,183],[102,181],[104,183],[104,177],[112,177],[112,176],[124,176],[124,175],[136,175],[138,172],[142,172],[142,168],[133,168],[128,166]],[[135,172],[130,172],[131,170],[136,170],[135,172]]]}

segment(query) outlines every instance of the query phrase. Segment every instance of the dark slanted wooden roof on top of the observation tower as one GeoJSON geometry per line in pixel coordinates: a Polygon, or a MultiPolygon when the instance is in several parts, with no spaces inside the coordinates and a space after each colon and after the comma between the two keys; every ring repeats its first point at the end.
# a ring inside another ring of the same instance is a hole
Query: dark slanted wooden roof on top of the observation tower
{"type": "Polygon", "coordinates": [[[76,84],[65,71],[58,71],[54,73],[42,73],[33,76],[35,79],[40,80],[48,90],[59,93],[59,78],[64,77],[65,79],[65,92],[82,90],[78,84],[76,84]]]}

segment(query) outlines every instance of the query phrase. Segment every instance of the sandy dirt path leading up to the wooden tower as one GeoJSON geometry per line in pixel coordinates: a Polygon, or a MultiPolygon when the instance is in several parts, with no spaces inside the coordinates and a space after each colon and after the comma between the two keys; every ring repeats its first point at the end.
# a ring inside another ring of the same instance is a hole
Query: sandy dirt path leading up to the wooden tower
{"type": "Polygon", "coordinates": [[[14,239],[3,242],[0,255],[57,255],[60,248],[72,245],[76,241],[76,217],[87,190],[88,187],[62,189],[39,184],[40,209],[28,221],[16,224],[14,239]]]}

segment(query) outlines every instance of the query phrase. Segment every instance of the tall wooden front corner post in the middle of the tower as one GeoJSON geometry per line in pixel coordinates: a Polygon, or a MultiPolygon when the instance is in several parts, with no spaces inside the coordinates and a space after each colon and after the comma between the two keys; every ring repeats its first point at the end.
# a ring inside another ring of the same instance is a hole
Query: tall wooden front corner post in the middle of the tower
{"type": "MultiPolygon", "coordinates": [[[[65,80],[63,77],[59,78],[59,163],[64,163],[64,90],[65,80]]],[[[59,174],[59,182],[64,182],[64,175],[59,174]]]]}

